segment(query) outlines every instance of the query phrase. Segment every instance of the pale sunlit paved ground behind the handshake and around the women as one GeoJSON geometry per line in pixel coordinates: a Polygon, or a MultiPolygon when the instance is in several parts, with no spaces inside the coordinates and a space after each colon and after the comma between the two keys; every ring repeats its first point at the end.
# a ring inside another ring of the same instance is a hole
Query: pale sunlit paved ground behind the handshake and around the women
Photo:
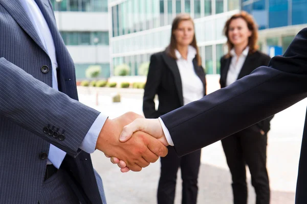
{"type": "MultiPolygon", "coordinates": [[[[100,93],[96,106],[95,92],[79,91],[80,101],[117,117],[127,111],[142,114],[142,96],[139,93],[122,94],[122,102],[114,104],[115,90],[100,93]],[[104,95],[104,96],[102,96],[104,95]]],[[[275,115],[271,122],[268,141],[268,170],[271,184],[271,203],[294,203],[297,167],[307,100],[275,115]]],[[[156,201],[160,163],[151,164],[141,172],[121,173],[103,154],[93,154],[95,169],[100,173],[108,203],[146,203],[156,201]]],[[[250,176],[248,175],[248,178],[250,176]]],[[[255,194],[249,182],[249,203],[255,203],[255,194]]],[[[198,203],[232,203],[231,178],[220,142],[202,150],[198,203]]],[[[181,203],[181,179],[178,173],[176,204],[181,203]]]]}

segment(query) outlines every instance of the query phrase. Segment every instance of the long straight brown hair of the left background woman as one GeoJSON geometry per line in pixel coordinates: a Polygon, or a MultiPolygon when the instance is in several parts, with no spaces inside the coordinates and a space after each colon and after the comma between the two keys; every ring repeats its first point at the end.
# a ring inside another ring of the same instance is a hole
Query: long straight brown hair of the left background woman
{"type": "Polygon", "coordinates": [[[193,19],[191,18],[191,16],[189,14],[186,14],[186,13],[182,13],[182,14],[179,14],[177,15],[173,22],[172,22],[172,25],[171,25],[171,36],[170,36],[170,43],[169,45],[166,47],[166,53],[173,59],[176,59],[177,60],[177,57],[176,57],[176,54],[175,54],[175,49],[177,48],[177,41],[176,41],[176,38],[175,38],[175,35],[174,35],[174,32],[178,29],[178,26],[179,26],[179,23],[181,21],[184,21],[184,20],[189,20],[193,23],[193,28],[194,28],[194,37],[193,37],[193,40],[191,42],[191,46],[193,46],[195,49],[196,49],[196,60],[197,60],[197,63],[199,66],[202,65],[202,60],[201,60],[201,56],[200,56],[200,53],[199,53],[199,49],[198,49],[198,46],[197,46],[197,42],[196,42],[196,37],[195,37],[195,25],[194,25],[194,21],[193,19]]]}

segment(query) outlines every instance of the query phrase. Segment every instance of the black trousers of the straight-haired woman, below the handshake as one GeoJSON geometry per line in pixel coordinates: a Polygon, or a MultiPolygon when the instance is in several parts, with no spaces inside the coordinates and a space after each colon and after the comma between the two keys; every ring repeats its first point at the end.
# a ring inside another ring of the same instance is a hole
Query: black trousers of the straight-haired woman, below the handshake
{"type": "Polygon", "coordinates": [[[168,155],[161,158],[158,203],[174,203],[177,171],[180,167],[182,177],[182,204],[196,204],[200,163],[201,149],[179,158],[174,148],[168,146],[168,155]]]}

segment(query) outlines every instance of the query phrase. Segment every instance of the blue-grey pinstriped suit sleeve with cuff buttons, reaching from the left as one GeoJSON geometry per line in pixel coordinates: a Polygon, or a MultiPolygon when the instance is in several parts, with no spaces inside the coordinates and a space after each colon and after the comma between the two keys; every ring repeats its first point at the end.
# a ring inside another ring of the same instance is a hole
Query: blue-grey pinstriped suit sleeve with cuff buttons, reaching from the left
{"type": "Polygon", "coordinates": [[[0,117],[76,157],[99,112],[33,78],[5,58],[0,58],[0,73],[0,117]],[[62,136],[49,136],[47,127],[62,136]]]}

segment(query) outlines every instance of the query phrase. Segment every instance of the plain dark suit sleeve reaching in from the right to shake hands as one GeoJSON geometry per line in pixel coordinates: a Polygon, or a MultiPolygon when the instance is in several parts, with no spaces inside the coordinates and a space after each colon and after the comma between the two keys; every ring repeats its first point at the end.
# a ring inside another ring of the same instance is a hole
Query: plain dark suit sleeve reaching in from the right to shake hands
{"type": "Polygon", "coordinates": [[[307,97],[307,29],[283,56],[226,88],[161,116],[179,156],[264,120],[307,97]]]}

